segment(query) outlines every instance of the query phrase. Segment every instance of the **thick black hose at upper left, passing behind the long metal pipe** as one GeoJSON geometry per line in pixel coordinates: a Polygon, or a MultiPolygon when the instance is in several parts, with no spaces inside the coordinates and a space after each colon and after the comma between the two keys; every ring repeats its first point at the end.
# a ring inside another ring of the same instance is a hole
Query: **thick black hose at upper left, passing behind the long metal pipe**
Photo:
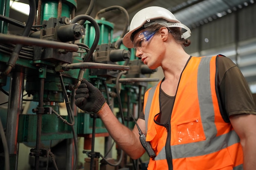
{"type": "MultiPolygon", "coordinates": [[[[32,28],[32,25],[34,23],[34,18],[36,16],[36,1],[35,0],[29,0],[29,17],[27,19],[27,24],[25,26],[25,29],[22,32],[22,36],[27,37],[29,35],[29,32],[32,28]]],[[[7,68],[4,71],[4,75],[8,75],[11,72],[11,69],[16,64],[16,61],[18,60],[20,50],[22,48],[22,44],[17,44],[11,53],[11,57],[9,61],[7,62],[7,68]]]]}

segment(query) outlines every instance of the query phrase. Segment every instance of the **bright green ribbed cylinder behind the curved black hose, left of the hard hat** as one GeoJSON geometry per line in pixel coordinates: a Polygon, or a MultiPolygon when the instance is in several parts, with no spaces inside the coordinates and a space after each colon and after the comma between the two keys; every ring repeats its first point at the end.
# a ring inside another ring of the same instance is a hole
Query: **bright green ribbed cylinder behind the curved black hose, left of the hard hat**
{"type": "MultiPolygon", "coordinates": [[[[114,24],[106,21],[105,18],[101,18],[101,20],[96,20],[96,22],[99,24],[100,29],[100,38],[98,45],[112,43],[114,24]]],[[[95,38],[94,26],[90,22],[86,21],[84,27],[86,32],[83,43],[91,47],[95,38]]]]}

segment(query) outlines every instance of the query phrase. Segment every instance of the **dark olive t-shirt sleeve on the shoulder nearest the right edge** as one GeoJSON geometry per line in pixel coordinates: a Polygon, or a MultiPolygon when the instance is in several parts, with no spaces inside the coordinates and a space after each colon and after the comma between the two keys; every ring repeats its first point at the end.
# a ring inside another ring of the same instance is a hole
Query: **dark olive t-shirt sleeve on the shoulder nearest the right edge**
{"type": "Polygon", "coordinates": [[[218,91],[222,109],[230,117],[256,114],[252,93],[240,69],[227,57],[218,57],[218,91]]]}

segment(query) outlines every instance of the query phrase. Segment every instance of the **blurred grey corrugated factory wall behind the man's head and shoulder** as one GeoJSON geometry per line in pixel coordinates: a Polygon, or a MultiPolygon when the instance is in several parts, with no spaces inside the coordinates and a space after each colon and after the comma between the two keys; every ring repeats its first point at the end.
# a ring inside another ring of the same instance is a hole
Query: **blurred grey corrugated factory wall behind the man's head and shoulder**
{"type": "Polygon", "coordinates": [[[256,4],[191,29],[187,53],[223,54],[238,65],[254,92],[256,84],[256,4]]]}

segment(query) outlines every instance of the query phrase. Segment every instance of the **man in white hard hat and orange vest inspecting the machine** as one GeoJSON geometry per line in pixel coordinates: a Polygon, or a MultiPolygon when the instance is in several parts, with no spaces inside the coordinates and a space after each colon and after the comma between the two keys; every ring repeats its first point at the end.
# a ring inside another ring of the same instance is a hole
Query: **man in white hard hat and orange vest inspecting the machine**
{"type": "MultiPolygon", "coordinates": [[[[253,170],[256,167],[256,106],[238,67],[227,57],[192,57],[190,30],[162,7],[148,7],[132,19],[123,43],[164,79],[144,95],[137,124],[156,157],[148,170],[253,170]]],[[[100,91],[83,81],[76,105],[99,115],[132,159],[145,150],[137,127],[115,118],[100,91]]]]}

